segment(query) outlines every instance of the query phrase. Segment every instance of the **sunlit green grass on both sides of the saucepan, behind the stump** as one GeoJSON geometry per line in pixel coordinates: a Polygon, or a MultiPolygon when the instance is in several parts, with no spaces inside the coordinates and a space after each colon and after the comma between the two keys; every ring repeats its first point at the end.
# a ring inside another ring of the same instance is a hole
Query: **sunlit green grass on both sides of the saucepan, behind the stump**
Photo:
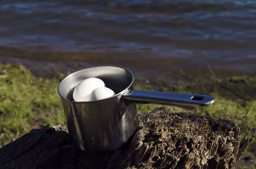
{"type": "MultiPolygon", "coordinates": [[[[32,128],[44,124],[64,124],[57,86],[67,74],[59,77],[36,77],[22,64],[0,63],[0,147],[12,142],[32,128]]],[[[239,75],[218,78],[211,73],[208,77],[191,77],[180,72],[177,84],[154,79],[137,78],[135,89],[210,94],[215,103],[196,110],[185,110],[161,105],[138,105],[138,111],[163,108],[173,112],[191,112],[210,115],[214,119],[232,119],[242,133],[251,130],[256,137],[256,77],[239,75]]],[[[253,142],[237,168],[256,168],[256,143],[253,142]]]]}

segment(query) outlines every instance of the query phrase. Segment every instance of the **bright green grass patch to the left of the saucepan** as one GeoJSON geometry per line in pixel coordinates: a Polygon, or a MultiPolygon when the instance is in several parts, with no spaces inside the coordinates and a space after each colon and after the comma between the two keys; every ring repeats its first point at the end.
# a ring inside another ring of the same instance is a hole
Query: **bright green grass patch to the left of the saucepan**
{"type": "Polygon", "coordinates": [[[0,63],[0,147],[31,128],[65,122],[58,82],[35,77],[22,64],[0,63]]]}

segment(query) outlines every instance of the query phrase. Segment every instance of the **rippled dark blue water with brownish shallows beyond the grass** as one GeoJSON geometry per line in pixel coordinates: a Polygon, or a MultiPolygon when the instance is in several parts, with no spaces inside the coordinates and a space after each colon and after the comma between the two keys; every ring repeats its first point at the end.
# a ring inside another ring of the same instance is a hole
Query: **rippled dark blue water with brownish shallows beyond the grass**
{"type": "Polygon", "coordinates": [[[41,71],[255,73],[255,41],[255,0],[0,1],[1,61],[41,71]]]}

